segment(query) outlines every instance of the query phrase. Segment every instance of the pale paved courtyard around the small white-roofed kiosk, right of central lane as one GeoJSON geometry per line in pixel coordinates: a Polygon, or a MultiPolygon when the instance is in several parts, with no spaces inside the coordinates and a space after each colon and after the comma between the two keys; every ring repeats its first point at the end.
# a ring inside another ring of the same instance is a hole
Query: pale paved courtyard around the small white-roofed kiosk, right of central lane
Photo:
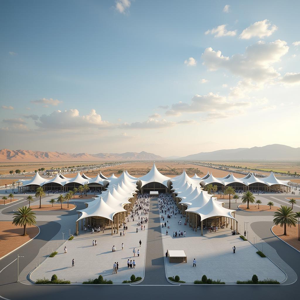
{"type": "Polygon", "coordinates": [[[162,230],[164,253],[168,250],[184,250],[187,263],[169,263],[165,258],[167,276],[179,275],[180,280],[193,282],[201,279],[205,274],[213,280],[235,282],[236,280],[251,279],[256,274],[259,279],[273,278],[278,281],[286,279],[286,275],[268,258],[260,257],[257,249],[248,241],[243,241],[239,235],[232,235],[230,227],[219,229],[217,232],[209,233],[203,229],[197,232],[182,225],[178,225],[179,218],[165,218],[170,223],[168,235],[166,228],[162,230]],[[173,238],[173,231],[186,231],[186,237],[173,238]],[[236,247],[233,254],[232,247],[236,247]],[[196,258],[196,267],[193,267],[193,259],[196,258]]]}

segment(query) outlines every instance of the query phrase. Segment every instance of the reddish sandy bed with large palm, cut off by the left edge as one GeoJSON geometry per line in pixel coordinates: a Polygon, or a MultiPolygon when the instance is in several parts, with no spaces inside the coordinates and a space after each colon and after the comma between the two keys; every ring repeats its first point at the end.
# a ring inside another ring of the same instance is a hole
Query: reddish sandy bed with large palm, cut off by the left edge
{"type": "Polygon", "coordinates": [[[17,247],[26,243],[30,239],[34,238],[38,232],[38,227],[32,225],[28,226],[27,235],[23,236],[23,227],[16,227],[11,221],[0,222],[0,257],[13,251],[17,247]]]}

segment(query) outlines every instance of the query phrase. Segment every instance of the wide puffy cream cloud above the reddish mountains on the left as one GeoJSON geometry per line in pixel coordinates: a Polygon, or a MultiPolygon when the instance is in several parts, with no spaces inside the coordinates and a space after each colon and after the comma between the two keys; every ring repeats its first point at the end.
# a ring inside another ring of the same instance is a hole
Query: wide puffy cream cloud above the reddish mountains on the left
{"type": "Polygon", "coordinates": [[[103,121],[94,109],[86,116],[80,116],[79,111],[70,109],[55,110],[50,115],[42,115],[35,124],[45,129],[78,129],[78,128],[108,128],[111,124],[103,121]]]}

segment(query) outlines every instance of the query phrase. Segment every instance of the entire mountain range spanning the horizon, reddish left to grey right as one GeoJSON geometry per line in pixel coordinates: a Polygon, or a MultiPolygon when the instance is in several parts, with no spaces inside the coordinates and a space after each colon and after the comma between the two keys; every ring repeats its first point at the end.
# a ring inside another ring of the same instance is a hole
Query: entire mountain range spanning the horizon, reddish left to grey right
{"type": "Polygon", "coordinates": [[[65,153],[32,150],[0,150],[0,162],[38,162],[38,161],[236,161],[236,160],[300,161],[300,147],[292,148],[273,144],[263,147],[224,149],[200,152],[185,157],[161,157],[142,151],[125,153],[65,153]]]}

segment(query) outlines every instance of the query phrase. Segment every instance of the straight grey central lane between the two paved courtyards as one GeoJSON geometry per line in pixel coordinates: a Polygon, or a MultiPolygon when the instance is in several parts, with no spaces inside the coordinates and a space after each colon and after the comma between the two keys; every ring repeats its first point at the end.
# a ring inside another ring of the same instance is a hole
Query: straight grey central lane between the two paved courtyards
{"type": "Polygon", "coordinates": [[[142,285],[170,284],[165,275],[163,244],[158,210],[158,199],[150,200],[145,279],[142,285]]]}

